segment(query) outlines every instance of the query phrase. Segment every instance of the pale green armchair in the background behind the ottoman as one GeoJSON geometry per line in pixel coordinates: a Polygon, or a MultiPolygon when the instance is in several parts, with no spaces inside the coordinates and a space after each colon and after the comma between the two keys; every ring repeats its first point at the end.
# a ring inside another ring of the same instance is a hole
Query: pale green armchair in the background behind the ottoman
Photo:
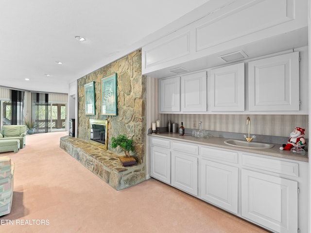
{"type": "Polygon", "coordinates": [[[26,125],[3,125],[0,133],[0,140],[19,139],[20,149],[26,145],[26,125]]]}

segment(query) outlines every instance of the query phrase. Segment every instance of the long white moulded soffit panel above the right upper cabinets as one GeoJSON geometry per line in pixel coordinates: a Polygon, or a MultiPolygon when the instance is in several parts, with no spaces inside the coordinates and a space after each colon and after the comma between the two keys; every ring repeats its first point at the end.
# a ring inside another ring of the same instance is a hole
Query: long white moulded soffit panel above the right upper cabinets
{"type": "Polygon", "coordinates": [[[226,11],[218,17],[210,16],[210,20],[198,26],[196,50],[204,50],[293,20],[294,10],[293,0],[245,1],[233,11],[226,11]]]}

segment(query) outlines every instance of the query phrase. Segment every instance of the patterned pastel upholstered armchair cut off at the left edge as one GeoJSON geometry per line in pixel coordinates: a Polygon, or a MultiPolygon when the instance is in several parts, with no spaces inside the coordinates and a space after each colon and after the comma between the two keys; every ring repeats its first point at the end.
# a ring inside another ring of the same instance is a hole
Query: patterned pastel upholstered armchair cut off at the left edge
{"type": "Polygon", "coordinates": [[[0,216],[11,212],[15,163],[8,156],[0,157],[0,216]]]}

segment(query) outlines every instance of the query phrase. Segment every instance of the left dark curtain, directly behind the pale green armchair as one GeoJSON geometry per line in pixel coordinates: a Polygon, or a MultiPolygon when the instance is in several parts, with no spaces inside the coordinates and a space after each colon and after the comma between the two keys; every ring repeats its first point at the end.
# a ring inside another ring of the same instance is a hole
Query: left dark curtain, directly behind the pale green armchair
{"type": "Polygon", "coordinates": [[[11,125],[24,124],[24,91],[11,90],[12,118],[11,125]]]}

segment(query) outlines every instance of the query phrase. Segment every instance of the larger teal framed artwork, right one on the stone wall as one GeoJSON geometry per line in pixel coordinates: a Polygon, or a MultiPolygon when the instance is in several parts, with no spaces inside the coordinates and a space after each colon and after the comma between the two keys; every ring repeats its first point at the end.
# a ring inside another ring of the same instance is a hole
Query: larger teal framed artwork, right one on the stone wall
{"type": "Polygon", "coordinates": [[[101,79],[102,115],[117,116],[117,73],[101,79]]]}

